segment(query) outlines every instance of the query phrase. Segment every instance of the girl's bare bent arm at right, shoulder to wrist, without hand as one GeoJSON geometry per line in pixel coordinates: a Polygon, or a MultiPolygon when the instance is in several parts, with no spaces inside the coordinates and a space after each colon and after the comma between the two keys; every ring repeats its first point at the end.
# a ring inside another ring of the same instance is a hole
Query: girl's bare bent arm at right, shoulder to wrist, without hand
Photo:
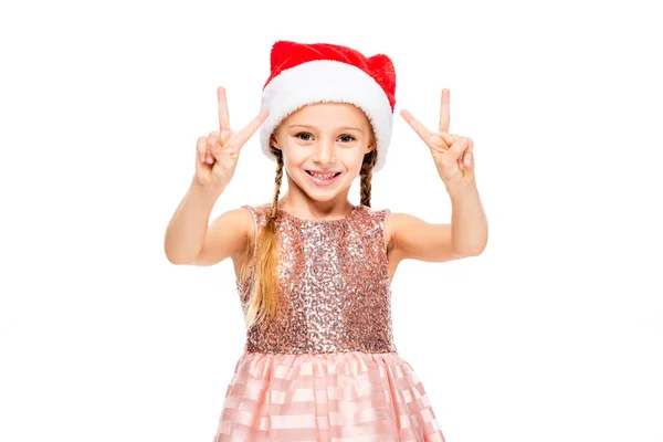
{"type": "Polygon", "coordinates": [[[387,234],[398,261],[444,262],[480,255],[487,242],[487,221],[476,188],[450,192],[451,223],[434,224],[406,213],[387,218],[387,234]]]}

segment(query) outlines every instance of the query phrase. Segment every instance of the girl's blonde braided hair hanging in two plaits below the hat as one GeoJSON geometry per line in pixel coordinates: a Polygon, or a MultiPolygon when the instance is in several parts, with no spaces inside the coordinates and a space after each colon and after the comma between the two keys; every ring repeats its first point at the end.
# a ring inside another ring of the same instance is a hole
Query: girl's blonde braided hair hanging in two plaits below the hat
{"type": "MultiPolygon", "coordinates": [[[[272,136],[273,139],[273,136],[272,136]]],[[[371,127],[371,144],[375,135],[371,127]]],[[[246,328],[265,320],[272,319],[277,307],[277,281],[278,281],[278,238],[276,235],[276,219],[278,217],[278,194],[283,179],[283,154],[270,144],[270,150],[276,159],[275,189],[272,207],[267,215],[267,222],[261,229],[257,248],[255,252],[255,277],[253,290],[246,306],[246,328]]],[[[359,177],[361,179],[360,197],[361,204],[370,208],[371,178],[373,167],[378,159],[378,149],[373,148],[364,156],[359,177]]],[[[250,262],[250,260],[249,260],[250,262]]],[[[248,273],[248,265],[243,266],[248,273]]],[[[243,281],[243,278],[242,278],[243,281]]]]}

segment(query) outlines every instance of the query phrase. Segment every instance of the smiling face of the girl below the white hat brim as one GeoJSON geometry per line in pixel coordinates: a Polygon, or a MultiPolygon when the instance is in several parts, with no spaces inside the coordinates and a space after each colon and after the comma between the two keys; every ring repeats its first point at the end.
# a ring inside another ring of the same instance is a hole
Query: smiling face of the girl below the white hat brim
{"type": "Polygon", "coordinates": [[[283,154],[290,188],[317,201],[347,197],[364,156],[375,148],[368,118],[346,103],[299,108],[278,125],[272,145],[283,154]]]}

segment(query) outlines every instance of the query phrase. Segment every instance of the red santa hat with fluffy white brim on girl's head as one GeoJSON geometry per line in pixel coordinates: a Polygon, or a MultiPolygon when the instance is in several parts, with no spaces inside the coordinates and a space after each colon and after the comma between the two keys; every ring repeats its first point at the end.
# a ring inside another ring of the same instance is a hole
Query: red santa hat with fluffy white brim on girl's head
{"type": "Polygon", "coordinates": [[[335,44],[278,41],[270,59],[271,75],[262,93],[262,107],[270,109],[270,115],[260,129],[261,148],[267,157],[274,159],[270,137],[285,117],[307,104],[340,102],[354,104],[367,115],[378,149],[373,171],[382,168],[396,105],[396,72],[387,55],[367,57],[335,44]]]}

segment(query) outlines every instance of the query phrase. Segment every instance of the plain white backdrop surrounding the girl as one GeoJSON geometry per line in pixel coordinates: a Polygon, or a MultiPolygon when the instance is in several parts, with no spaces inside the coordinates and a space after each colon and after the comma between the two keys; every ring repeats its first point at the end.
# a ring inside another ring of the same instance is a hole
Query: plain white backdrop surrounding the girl
{"type": "MultiPolygon", "coordinates": [[[[0,440],[211,442],[244,344],[230,262],[164,234],[276,40],[382,52],[372,207],[449,222],[399,115],[474,140],[483,255],[403,263],[393,333],[448,442],[663,441],[663,41],[645,1],[25,1],[0,7],[0,440]]],[[[271,200],[253,137],[213,215],[271,200]]],[[[285,188],[284,188],[285,189],[285,188]]],[[[351,201],[359,201],[358,181],[351,201]]]]}

